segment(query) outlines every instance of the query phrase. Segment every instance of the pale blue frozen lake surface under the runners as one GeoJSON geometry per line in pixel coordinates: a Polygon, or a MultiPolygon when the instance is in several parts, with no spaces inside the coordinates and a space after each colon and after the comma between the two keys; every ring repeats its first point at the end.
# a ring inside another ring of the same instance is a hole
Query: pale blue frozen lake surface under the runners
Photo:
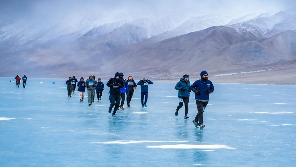
{"type": "Polygon", "coordinates": [[[77,88],[67,97],[66,80],[28,78],[26,88],[17,88],[14,78],[0,78],[0,166],[296,163],[296,86],[213,83],[206,126],[197,129],[194,93],[189,119],[184,106],[174,115],[176,83],[149,85],[147,108],[141,108],[138,87],[131,107],[125,103],[112,117],[109,87],[100,102],[88,106],[87,93],[79,102],[77,88]]]}

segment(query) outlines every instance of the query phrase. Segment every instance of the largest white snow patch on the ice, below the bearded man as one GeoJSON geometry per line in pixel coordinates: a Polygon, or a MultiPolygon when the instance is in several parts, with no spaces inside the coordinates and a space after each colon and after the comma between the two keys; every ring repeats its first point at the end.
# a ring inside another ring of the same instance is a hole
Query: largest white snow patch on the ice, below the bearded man
{"type": "Polygon", "coordinates": [[[162,146],[147,146],[147,148],[161,148],[161,149],[236,149],[234,147],[220,145],[220,144],[176,144],[176,145],[162,145],[162,146]]]}

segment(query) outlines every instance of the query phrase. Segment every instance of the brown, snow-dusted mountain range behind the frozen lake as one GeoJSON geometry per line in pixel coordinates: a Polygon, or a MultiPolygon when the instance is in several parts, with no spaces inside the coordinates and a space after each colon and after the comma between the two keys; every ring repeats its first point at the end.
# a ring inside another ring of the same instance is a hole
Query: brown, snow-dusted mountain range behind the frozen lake
{"type": "Polygon", "coordinates": [[[294,11],[2,19],[0,76],[107,79],[119,71],[176,80],[207,70],[214,82],[295,84],[294,11]]]}

